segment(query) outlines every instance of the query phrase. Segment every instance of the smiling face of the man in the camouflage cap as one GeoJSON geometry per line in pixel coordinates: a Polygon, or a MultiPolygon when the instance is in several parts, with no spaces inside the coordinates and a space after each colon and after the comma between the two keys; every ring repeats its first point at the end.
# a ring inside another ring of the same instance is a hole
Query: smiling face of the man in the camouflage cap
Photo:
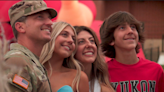
{"type": "Polygon", "coordinates": [[[29,39],[46,43],[51,40],[51,17],[47,11],[42,11],[27,17],[24,28],[29,39]]]}

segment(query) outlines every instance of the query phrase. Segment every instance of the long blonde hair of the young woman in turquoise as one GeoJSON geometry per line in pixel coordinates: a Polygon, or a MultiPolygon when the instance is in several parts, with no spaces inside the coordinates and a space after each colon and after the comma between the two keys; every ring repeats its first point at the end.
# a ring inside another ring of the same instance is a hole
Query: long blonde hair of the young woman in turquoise
{"type": "MultiPolygon", "coordinates": [[[[52,57],[52,54],[54,51],[55,40],[56,40],[57,36],[60,34],[60,32],[67,26],[70,26],[73,29],[73,31],[75,33],[75,37],[77,37],[75,29],[70,24],[68,24],[66,22],[55,22],[52,25],[51,41],[48,42],[47,44],[45,44],[42,49],[42,52],[40,55],[40,60],[39,60],[41,62],[41,64],[44,65],[46,62],[49,63],[49,60],[52,57]]],[[[79,81],[80,81],[81,68],[79,65],[80,63],[74,59],[76,50],[77,50],[77,41],[75,40],[75,50],[71,54],[70,57],[64,59],[63,66],[77,70],[76,76],[72,82],[72,87],[76,86],[77,92],[79,92],[78,86],[79,86],[79,81]]],[[[50,66],[50,72],[52,74],[52,67],[51,67],[50,63],[49,63],[49,66],[50,66]]]]}

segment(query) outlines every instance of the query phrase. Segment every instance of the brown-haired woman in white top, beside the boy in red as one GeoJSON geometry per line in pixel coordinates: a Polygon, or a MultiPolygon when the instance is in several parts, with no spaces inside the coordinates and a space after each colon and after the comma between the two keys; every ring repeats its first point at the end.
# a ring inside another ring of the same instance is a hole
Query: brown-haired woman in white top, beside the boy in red
{"type": "Polygon", "coordinates": [[[89,79],[90,92],[114,92],[96,34],[88,27],[75,26],[78,48],[75,58],[79,60],[89,79]]]}

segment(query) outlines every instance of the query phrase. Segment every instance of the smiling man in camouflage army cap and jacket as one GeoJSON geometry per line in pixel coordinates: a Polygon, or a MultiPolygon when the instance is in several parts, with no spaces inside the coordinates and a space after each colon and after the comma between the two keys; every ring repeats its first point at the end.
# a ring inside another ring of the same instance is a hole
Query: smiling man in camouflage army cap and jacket
{"type": "Polygon", "coordinates": [[[42,47],[51,39],[51,19],[56,15],[44,1],[20,1],[9,9],[17,43],[10,45],[5,62],[23,69],[21,73],[8,73],[12,92],[52,92],[47,73],[38,60],[42,47]]]}

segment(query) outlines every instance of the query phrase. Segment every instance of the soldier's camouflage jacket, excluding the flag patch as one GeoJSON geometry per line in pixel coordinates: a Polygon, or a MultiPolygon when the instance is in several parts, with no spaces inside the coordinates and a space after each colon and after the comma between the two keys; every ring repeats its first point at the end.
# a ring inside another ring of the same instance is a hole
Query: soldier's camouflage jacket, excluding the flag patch
{"type": "Polygon", "coordinates": [[[15,74],[8,71],[10,90],[12,92],[52,92],[47,73],[37,57],[18,43],[11,44],[10,49],[5,55],[5,62],[21,67],[22,71],[17,75],[29,82],[28,88],[23,88],[12,81],[15,74]]]}

